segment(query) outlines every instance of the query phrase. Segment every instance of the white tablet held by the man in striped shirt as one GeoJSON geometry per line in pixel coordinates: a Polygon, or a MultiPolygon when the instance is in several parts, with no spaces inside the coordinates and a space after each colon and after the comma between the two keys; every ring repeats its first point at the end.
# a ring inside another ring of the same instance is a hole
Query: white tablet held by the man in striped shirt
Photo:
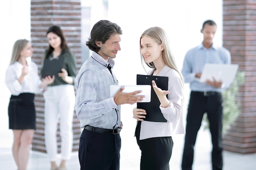
{"type": "MultiPolygon", "coordinates": [[[[121,88],[121,85],[111,85],[110,86],[110,97],[113,97],[117,91],[121,88]]],[[[141,102],[151,101],[151,86],[150,85],[135,85],[135,86],[124,86],[123,93],[131,93],[134,91],[142,91],[135,96],[144,95],[145,98],[141,102]]]]}

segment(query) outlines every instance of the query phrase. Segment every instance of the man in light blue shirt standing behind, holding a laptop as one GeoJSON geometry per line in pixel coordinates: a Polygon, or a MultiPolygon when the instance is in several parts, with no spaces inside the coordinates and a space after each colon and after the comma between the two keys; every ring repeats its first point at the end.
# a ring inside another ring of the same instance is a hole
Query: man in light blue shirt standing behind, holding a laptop
{"type": "Polygon", "coordinates": [[[206,63],[230,64],[230,52],[213,45],[216,23],[207,20],[203,23],[201,33],[202,44],[189,50],[184,58],[182,75],[185,82],[190,83],[191,94],[186,119],[186,136],[182,157],[182,170],[192,170],[195,140],[201,126],[202,117],[207,113],[210,124],[213,149],[211,153],[212,170],[222,170],[222,95],[227,86],[221,81],[199,79],[206,63]]]}

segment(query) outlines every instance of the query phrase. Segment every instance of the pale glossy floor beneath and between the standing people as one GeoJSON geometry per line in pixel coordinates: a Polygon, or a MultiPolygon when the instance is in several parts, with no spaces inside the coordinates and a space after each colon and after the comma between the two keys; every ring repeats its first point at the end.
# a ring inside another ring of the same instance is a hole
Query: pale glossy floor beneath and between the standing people
{"type": "MultiPolygon", "coordinates": [[[[132,126],[132,124],[127,125],[132,126]]],[[[1,137],[11,139],[11,131],[1,137]]],[[[123,129],[121,132],[122,147],[120,170],[139,170],[140,151],[133,137],[133,131],[123,129]]],[[[170,170],[181,170],[180,162],[183,148],[184,135],[173,137],[174,148],[170,161],[170,170]]],[[[13,157],[11,155],[11,140],[0,140],[0,170],[16,170],[13,157]],[[9,147],[10,146],[10,147],[9,147]]],[[[211,170],[210,135],[208,130],[200,130],[195,146],[194,170],[211,170]]],[[[240,155],[232,152],[224,152],[223,170],[255,170],[256,154],[240,155]]],[[[46,154],[31,151],[28,170],[49,170],[49,161],[46,154]]],[[[67,162],[67,170],[79,170],[78,153],[73,152],[71,159],[67,162]]]]}

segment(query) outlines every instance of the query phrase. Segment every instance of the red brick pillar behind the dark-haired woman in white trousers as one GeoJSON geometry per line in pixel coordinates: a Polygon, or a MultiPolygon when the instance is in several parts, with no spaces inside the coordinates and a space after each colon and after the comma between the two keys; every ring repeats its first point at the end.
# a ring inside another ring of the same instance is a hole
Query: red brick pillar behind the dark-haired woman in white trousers
{"type": "MultiPolygon", "coordinates": [[[[80,0],[31,0],[31,44],[34,49],[32,60],[38,64],[39,70],[43,60],[43,52],[48,46],[46,31],[50,25],[61,27],[70,50],[76,57],[77,71],[81,67],[81,2],[80,0]]],[[[44,99],[36,95],[36,132],[32,141],[32,150],[46,152],[44,140],[44,99]]],[[[80,123],[74,112],[73,151],[79,148],[81,134],[80,123]]],[[[57,132],[58,152],[61,138],[57,132]]]]}

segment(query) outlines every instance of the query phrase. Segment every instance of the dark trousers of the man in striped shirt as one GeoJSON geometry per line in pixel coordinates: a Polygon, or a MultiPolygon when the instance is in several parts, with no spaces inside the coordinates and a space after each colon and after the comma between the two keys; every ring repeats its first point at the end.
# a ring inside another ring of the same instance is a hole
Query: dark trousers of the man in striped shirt
{"type": "Polygon", "coordinates": [[[80,170],[119,170],[120,135],[84,129],[79,142],[80,170]]]}

